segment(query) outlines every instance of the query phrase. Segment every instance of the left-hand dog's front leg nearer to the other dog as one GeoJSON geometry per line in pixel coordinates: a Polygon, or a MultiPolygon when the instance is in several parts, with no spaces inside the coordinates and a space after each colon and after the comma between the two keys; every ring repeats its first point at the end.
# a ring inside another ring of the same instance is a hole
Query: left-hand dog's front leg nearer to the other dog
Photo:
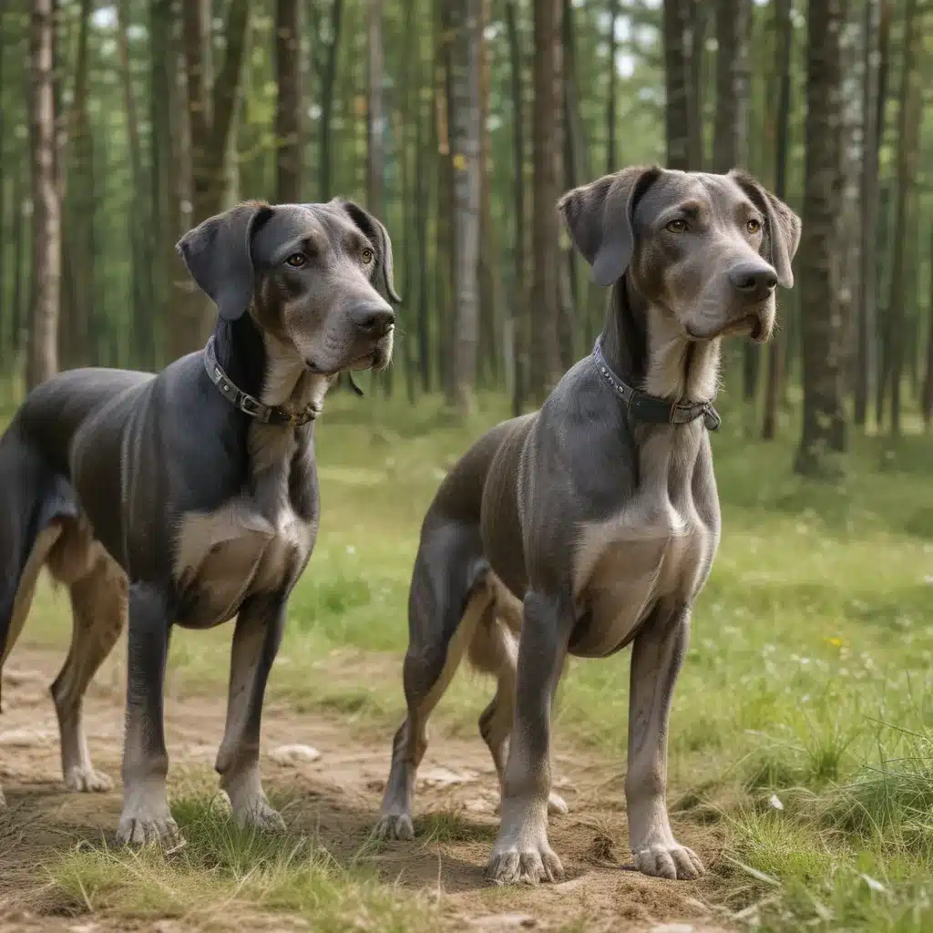
{"type": "Polygon", "coordinates": [[[262,700],[282,641],[285,605],[281,596],[262,596],[240,610],[230,653],[227,727],[214,766],[237,823],[268,830],[285,829],[259,778],[262,700]]]}

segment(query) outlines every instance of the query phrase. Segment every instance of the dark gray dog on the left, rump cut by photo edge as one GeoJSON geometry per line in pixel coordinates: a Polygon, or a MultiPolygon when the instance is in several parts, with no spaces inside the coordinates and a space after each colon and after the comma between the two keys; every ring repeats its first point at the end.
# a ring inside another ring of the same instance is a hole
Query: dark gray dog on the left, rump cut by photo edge
{"type": "Polygon", "coordinates": [[[0,439],[0,663],[46,564],[74,610],[51,689],[74,790],[110,787],[91,767],[81,700],[129,609],[123,842],[177,832],[162,730],[170,630],[233,616],[216,770],[239,823],[282,826],[259,780],[259,720],[317,533],[313,419],[338,373],[392,355],[392,246],[353,202],[244,203],[178,249],[219,312],[207,347],[156,376],[55,376],[0,439]]]}

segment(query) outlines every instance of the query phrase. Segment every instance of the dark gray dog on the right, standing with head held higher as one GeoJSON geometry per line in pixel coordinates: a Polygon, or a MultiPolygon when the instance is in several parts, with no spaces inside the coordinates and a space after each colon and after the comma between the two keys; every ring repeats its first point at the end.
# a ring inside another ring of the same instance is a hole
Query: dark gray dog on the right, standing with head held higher
{"type": "MultiPolygon", "coordinates": [[[[693,878],[703,864],[668,822],[667,726],[690,607],[719,539],[707,436],[719,344],[771,334],[800,221],[746,174],[659,168],[576,188],[560,210],[594,280],[613,285],[606,326],[540,411],[464,455],[428,510],[411,580],[408,717],[378,831],[413,835],[427,718],[468,650],[498,678],[480,717],[502,790],[488,875],[553,881],[563,869],[548,844],[550,709],[565,657],[632,642],[634,862],[693,878]]],[[[550,809],[563,801],[551,796],[550,809]]]]}

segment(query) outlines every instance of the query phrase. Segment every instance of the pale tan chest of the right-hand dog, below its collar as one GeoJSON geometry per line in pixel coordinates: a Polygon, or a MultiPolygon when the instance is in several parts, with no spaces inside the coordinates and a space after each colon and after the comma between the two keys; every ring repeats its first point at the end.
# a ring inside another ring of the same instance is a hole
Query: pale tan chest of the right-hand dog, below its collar
{"type": "Polygon", "coordinates": [[[586,624],[575,654],[619,648],[661,601],[689,606],[709,573],[718,534],[698,508],[689,471],[664,461],[652,475],[650,466],[624,508],[580,528],[574,589],[586,624]]]}

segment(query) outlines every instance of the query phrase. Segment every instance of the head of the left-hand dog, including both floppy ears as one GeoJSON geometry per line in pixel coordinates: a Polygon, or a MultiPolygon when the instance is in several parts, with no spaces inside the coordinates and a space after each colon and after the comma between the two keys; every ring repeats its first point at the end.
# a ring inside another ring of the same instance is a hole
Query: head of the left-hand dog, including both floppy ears
{"type": "Polygon", "coordinates": [[[222,318],[252,314],[311,372],[384,369],[392,358],[392,243],[354,202],[245,202],[177,248],[222,318]]]}

